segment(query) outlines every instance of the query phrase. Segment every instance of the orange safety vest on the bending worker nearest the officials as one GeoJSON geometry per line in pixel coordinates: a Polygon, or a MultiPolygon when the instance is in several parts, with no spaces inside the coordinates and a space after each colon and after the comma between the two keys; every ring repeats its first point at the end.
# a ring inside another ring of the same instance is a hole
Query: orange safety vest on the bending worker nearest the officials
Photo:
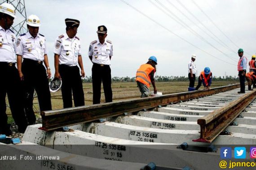
{"type": "Polygon", "coordinates": [[[149,88],[151,83],[149,74],[153,70],[155,72],[155,69],[152,65],[142,64],[141,67],[137,70],[136,81],[143,83],[149,88]]]}

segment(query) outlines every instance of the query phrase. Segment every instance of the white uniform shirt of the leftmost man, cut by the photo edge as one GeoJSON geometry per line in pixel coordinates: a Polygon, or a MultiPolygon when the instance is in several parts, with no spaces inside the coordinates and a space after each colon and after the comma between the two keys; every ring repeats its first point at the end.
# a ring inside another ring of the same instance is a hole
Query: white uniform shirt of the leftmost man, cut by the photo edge
{"type": "Polygon", "coordinates": [[[0,62],[16,63],[16,36],[12,30],[0,26],[0,62]]]}

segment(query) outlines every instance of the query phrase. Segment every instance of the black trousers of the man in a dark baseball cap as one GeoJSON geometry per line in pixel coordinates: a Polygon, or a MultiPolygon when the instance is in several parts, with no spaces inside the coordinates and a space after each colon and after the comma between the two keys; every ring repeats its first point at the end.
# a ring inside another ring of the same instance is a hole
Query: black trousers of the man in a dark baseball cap
{"type": "Polygon", "coordinates": [[[112,102],[112,89],[111,89],[111,69],[109,65],[93,64],[92,68],[93,79],[93,104],[101,102],[101,88],[105,94],[105,101],[112,102]]]}

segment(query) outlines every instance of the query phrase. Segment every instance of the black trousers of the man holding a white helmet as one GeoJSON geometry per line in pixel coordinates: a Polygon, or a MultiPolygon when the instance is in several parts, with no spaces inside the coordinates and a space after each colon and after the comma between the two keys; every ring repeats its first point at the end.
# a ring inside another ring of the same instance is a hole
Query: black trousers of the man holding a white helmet
{"type": "Polygon", "coordinates": [[[84,106],[84,90],[77,66],[59,65],[59,73],[62,77],[63,107],[72,107],[72,93],[75,107],[84,106]]]}

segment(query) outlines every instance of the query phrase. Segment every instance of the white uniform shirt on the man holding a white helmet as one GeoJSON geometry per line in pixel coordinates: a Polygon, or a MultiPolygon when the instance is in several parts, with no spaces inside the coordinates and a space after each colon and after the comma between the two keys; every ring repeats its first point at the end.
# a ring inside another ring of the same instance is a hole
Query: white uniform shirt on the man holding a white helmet
{"type": "Polygon", "coordinates": [[[76,66],[78,64],[78,55],[81,55],[81,45],[78,37],[69,38],[62,34],[56,39],[54,51],[59,56],[59,64],[76,66]]]}

